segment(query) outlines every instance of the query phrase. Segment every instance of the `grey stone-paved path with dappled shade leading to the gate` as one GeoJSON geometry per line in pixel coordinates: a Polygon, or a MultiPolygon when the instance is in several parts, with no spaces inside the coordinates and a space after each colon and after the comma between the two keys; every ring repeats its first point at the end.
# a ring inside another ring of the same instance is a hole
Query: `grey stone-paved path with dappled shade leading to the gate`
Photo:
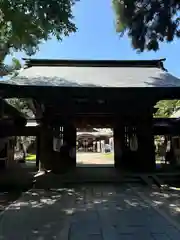
{"type": "Polygon", "coordinates": [[[0,217],[7,240],[178,240],[180,232],[130,185],[31,190],[0,217]]]}

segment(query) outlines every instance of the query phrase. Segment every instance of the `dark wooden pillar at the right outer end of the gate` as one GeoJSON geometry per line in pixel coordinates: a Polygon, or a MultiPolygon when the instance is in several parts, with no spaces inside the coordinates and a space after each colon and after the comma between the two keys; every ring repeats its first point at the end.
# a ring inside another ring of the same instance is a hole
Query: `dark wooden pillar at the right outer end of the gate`
{"type": "Polygon", "coordinates": [[[156,168],[152,119],[152,116],[146,116],[137,126],[138,159],[136,160],[136,171],[138,172],[152,172],[156,168]]]}

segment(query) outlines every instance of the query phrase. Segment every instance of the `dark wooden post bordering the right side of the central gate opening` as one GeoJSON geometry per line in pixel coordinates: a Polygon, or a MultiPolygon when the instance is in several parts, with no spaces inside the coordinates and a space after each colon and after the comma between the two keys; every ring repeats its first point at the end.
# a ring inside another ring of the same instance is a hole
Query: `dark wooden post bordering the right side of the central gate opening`
{"type": "Polygon", "coordinates": [[[121,123],[114,127],[114,165],[116,168],[123,166],[124,152],[124,125],[121,123]]]}

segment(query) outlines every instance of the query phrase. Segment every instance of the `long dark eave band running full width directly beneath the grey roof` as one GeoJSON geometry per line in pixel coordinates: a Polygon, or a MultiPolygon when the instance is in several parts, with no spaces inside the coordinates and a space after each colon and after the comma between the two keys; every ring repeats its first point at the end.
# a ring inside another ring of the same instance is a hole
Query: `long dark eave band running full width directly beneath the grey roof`
{"type": "Polygon", "coordinates": [[[139,102],[147,99],[158,99],[159,97],[179,96],[179,88],[164,87],[128,87],[128,88],[103,88],[103,87],[57,87],[57,86],[30,86],[30,85],[13,85],[0,84],[0,96],[3,98],[35,98],[39,100],[48,99],[68,99],[85,97],[88,99],[139,99],[139,102]],[[174,94],[174,95],[173,95],[174,94]]]}

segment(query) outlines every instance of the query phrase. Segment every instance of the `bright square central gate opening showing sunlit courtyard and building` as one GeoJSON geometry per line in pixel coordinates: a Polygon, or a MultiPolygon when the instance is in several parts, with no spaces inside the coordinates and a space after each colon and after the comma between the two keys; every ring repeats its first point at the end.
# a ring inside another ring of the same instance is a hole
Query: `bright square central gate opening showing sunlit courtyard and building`
{"type": "Polygon", "coordinates": [[[78,167],[114,166],[112,129],[78,128],[76,132],[76,161],[78,167]]]}

